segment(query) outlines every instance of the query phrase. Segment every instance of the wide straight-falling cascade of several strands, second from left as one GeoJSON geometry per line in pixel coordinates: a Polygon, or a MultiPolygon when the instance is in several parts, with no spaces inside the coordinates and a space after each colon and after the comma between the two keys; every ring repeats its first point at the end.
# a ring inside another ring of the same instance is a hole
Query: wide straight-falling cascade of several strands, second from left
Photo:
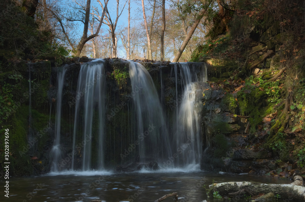
{"type": "Polygon", "coordinates": [[[77,165],[72,157],[71,168],[88,171],[104,168],[106,78],[103,60],[81,64],[74,114],[72,153],[82,151],[77,165]],[[94,146],[93,143],[96,143],[94,146]],[[92,153],[92,150],[95,152],[92,153]]]}

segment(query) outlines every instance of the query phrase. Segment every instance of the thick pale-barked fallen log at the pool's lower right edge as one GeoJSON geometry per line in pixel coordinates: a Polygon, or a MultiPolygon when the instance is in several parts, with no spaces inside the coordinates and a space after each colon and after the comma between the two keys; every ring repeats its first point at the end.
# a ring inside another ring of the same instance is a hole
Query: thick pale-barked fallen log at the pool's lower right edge
{"type": "MultiPolygon", "coordinates": [[[[259,194],[274,193],[281,195],[281,199],[289,199],[295,201],[305,201],[305,187],[292,184],[264,184],[257,182],[223,182],[209,186],[210,192],[215,191],[224,196],[232,196],[239,190],[245,189],[256,196],[259,194]]],[[[242,196],[242,195],[241,195],[242,196]]]]}

